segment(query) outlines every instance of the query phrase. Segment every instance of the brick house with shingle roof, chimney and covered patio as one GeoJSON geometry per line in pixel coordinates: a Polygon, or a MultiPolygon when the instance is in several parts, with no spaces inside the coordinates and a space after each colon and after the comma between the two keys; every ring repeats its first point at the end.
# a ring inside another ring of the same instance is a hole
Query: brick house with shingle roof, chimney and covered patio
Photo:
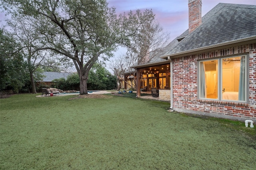
{"type": "Polygon", "coordinates": [[[203,17],[201,7],[188,0],[189,29],[161,56],[165,61],[134,66],[137,75],[167,64],[170,109],[256,120],[256,6],[220,3],[203,17]]]}

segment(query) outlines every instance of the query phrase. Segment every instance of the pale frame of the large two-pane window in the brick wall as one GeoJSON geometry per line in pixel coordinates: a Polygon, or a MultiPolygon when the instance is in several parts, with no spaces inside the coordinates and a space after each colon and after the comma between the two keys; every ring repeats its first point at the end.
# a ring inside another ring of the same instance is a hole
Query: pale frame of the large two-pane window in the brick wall
{"type": "Polygon", "coordinates": [[[239,103],[248,103],[249,101],[249,54],[248,53],[243,53],[240,55],[229,55],[229,56],[222,56],[222,57],[214,57],[214,58],[208,58],[208,59],[201,59],[197,61],[197,68],[198,68],[198,73],[197,73],[197,81],[198,81],[198,99],[200,100],[214,100],[214,101],[223,101],[223,102],[239,102],[239,103]],[[244,96],[244,100],[223,100],[222,99],[222,59],[228,59],[228,58],[234,58],[234,57],[244,57],[245,59],[245,96],[244,96]],[[201,91],[200,91],[200,73],[201,73],[201,68],[200,68],[200,63],[204,62],[204,61],[214,61],[217,60],[217,64],[218,67],[216,70],[216,72],[218,73],[218,88],[217,88],[217,94],[218,97],[217,99],[213,99],[213,98],[202,98],[200,97],[201,95],[201,91]]]}

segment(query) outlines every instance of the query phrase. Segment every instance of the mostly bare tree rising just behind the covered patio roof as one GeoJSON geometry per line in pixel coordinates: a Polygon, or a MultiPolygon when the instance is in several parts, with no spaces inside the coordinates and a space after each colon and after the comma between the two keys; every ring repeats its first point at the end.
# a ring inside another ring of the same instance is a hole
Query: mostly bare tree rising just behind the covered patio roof
{"type": "Polygon", "coordinates": [[[141,75],[136,75],[136,69],[132,66],[157,60],[157,57],[164,55],[164,47],[169,42],[169,33],[163,30],[155,18],[141,25],[137,35],[132,37],[131,47],[128,48],[124,60],[128,65],[127,72],[133,75],[133,85],[137,86],[137,78],[141,78],[141,75]]]}

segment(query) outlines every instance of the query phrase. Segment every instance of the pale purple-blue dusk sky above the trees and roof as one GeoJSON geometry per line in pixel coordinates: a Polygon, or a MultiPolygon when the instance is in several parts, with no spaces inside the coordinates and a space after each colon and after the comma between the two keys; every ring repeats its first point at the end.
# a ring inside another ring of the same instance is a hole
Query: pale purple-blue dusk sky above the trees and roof
{"type": "MultiPolygon", "coordinates": [[[[171,39],[188,29],[188,0],[108,0],[108,3],[116,7],[117,13],[152,9],[160,25],[170,32],[171,39]]],[[[218,3],[256,5],[256,0],[202,0],[202,16],[218,3]]]]}

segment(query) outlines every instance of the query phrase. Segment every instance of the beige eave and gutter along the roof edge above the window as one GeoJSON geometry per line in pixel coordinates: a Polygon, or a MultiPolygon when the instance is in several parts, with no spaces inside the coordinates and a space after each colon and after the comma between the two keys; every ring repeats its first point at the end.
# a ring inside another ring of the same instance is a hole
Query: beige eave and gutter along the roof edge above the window
{"type": "Polygon", "coordinates": [[[161,58],[166,59],[167,57],[171,57],[171,58],[181,57],[181,55],[183,56],[183,55],[188,54],[188,53],[194,53],[194,52],[197,52],[197,51],[217,48],[217,47],[231,45],[231,44],[235,44],[235,43],[241,43],[241,42],[244,42],[244,41],[251,41],[251,40],[255,40],[255,39],[256,39],[256,36],[252,36],[252,37],[248,37],[248,38],[244,38],[244,39],[238,39],[238,40],[234,40],[234,41],[228,41],[228,42],[225,42],[225,43],[219,43],[219,44],[210,45],[210,46],[206,46],[206,47],[201,47],[201,48],[197,48],[197,49],[192,49],[192,50],[188,50],[188,51],[182,51],[180,53],[164,55],[164,56],[161,56],[161,58]]]}

